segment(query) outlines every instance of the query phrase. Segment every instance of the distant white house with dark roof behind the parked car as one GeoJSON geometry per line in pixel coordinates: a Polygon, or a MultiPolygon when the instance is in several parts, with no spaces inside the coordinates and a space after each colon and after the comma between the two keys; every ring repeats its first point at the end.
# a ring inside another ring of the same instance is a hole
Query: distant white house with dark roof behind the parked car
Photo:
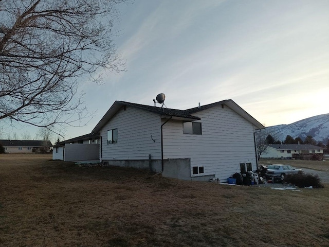
{"type": "Polygon", "coordinates": [[[323,154],[322,147],[308,144],[270,144],[261,158],[291,158],[297,154],[323,154]]]}

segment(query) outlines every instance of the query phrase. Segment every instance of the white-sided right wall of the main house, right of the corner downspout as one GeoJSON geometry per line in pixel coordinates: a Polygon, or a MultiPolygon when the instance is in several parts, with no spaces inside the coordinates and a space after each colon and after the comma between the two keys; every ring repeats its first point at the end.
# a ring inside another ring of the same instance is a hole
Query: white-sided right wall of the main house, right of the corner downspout
{"type": "MultiPolygon", "coordinates": [[[[214,175],[221,182],[235,172],[240,163],[252,163],[257,169],[253,125],[224,106],[193,114],[201,118],[202,135],[184,134],[182,121],[168,121],[163,126],[164,158],[190,158],[190,175],[214,175]],[[193,175],[193,166],[203,166],[204,173],[193,175]]],[[[162,122],[164,122],[163,120],[162,122]]]]}

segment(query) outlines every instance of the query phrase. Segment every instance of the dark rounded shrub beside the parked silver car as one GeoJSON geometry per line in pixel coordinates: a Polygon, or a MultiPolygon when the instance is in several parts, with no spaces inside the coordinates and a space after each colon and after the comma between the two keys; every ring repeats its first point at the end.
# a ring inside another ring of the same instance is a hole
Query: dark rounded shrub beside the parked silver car
{"type": "Polygon", "coordinates": [[[294,184],[299,188],[312,186],[313,188],[323,188],[318,175],[305,174],[299,172],[297,174],[287,174],[283,182],[294,184]]]}

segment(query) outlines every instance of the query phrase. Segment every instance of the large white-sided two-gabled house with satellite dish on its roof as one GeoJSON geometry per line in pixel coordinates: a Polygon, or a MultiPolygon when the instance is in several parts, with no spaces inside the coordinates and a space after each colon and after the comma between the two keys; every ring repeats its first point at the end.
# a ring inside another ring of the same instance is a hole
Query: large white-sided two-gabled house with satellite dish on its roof
{"type": "Polygon", "coordinates": [[[264,128],[231,99],[187,110],[115,101],[92,133],[104,164],[224,182],[241,166],[257,169],[254,133],[264,128]]]}

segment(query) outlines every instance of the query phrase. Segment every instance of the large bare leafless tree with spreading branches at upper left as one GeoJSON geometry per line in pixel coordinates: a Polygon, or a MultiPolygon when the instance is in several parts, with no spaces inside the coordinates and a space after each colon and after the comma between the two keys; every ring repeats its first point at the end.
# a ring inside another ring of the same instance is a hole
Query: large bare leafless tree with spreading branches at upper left
{"type": "Polygon", "coordinates": [[[79,78],[123,70],[112,27],[125,1],[0,0],[0,120],[50,127],[86,117],[79,78]]]}

